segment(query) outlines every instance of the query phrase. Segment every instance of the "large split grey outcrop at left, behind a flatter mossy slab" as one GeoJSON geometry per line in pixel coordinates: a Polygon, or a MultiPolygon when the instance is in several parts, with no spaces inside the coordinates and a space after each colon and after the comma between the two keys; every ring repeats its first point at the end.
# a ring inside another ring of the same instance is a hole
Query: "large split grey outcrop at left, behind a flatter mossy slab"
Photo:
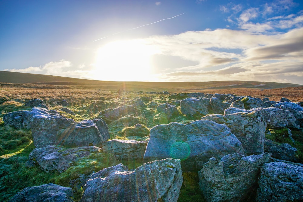
{"type": "Polygon", "coordinates": [[[109,139],[107,125],[102,119],[75,123],[73,119],[65,118],[44,108],[32,108],[23,124],[32,129],[36,147],[96,146],[109,139]]]}

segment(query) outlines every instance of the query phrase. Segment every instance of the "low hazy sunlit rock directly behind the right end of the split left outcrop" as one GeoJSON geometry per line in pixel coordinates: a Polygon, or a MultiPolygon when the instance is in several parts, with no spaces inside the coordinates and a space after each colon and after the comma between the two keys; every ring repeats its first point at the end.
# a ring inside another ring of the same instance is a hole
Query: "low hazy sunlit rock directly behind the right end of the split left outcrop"
{"type": "Polygon", "coordinates": [[[138,114],[140,111],[132,105],[123,105],[114,109],[108,109],[105,111],[101,111],[100,115],[102,115],[106,120],[114,121],[121,117],[126,116],[127,114],[138,114]]]}

